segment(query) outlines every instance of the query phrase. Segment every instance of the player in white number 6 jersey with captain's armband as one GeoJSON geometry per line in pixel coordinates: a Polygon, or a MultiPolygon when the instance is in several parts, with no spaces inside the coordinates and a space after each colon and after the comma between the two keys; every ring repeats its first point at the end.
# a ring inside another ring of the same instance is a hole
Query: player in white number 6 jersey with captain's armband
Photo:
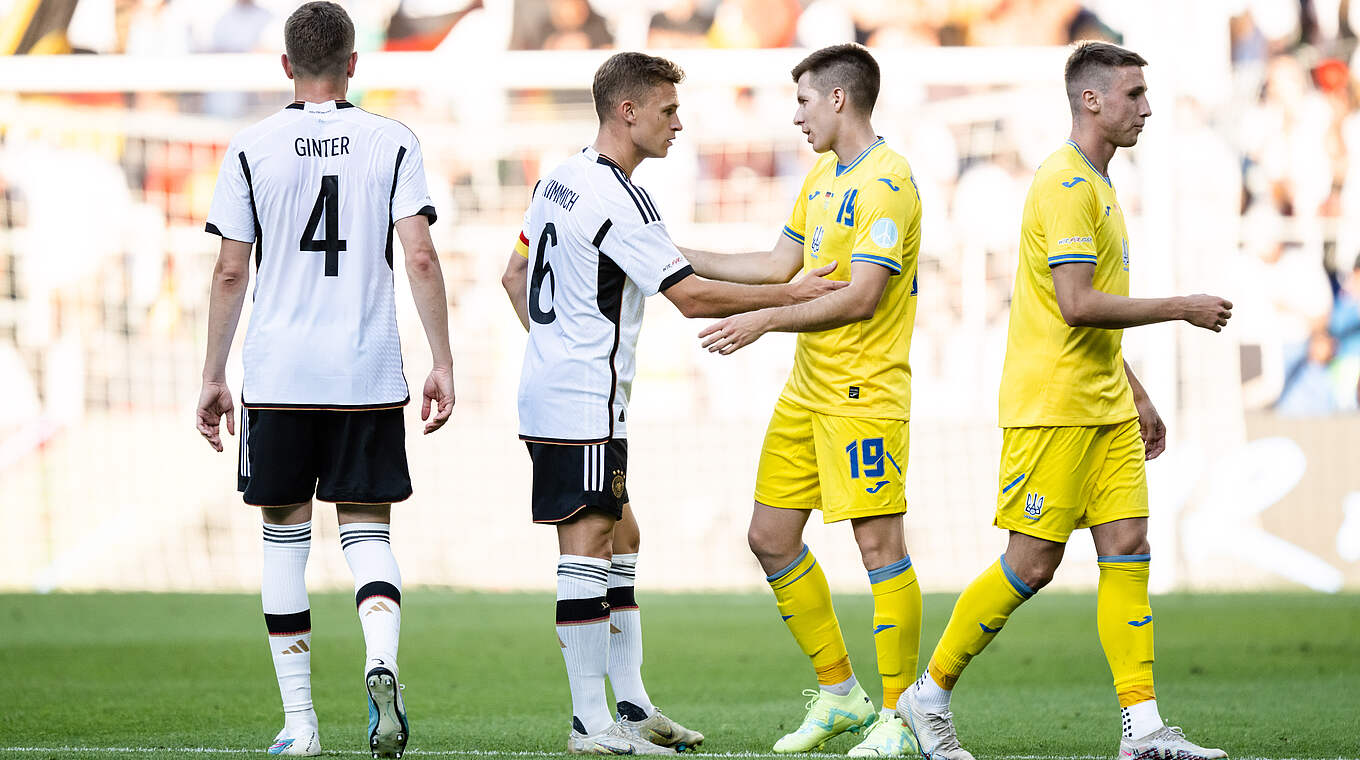
{"type": "Polygon", "coordinates": [[[594,143],[534,186],[503,284],[529,330],[520,379],[520,438],[533,461],[533,521],[558,529],[558,638],[571,685],[567,750],[669,753],[703,734],[651,704],[642,684],[634,598],[638,522],[628,506],[627,407],[643,299],[657,292],[685,317],[729,315],[808,300],[846,283],[831,266],[777,286],[703,280],[632,184],[666,155],[684,73],[619,53],[594,75],[594,143]],[[613,688],[617,721],[605,702],[613,688]]]}

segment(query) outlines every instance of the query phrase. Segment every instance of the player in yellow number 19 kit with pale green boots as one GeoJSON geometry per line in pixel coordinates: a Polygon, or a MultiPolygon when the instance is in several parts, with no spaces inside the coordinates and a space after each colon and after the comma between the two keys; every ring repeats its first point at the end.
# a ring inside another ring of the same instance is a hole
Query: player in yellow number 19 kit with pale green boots
{"type": "Polygon", "coordinates": [[[794,124],[823,155],[774,250],[684,252],[704,277],[786,281],[800,269],[835,264],[828,277],[850,283],[797,307],[732,317],[700,333],[703,345],[719,353],[770,330],[800,333],[760,451],[748,540],[820,688],[805,692],[812,697],[806,716],[774,750],[809,752],[836,734],[869,727],[851,756],[915,755],[894,707],[915,677],[921,646],[921,589],[902,521],[921,198],[907,160],[869,122],[879,65],[868,50],[817,50],[794,67],[793,79],[794,124]],[[826,575],[802,541],[812,510],[821,510],[826,522],[850,521],[860,545],[874,600],[881,714],[855,680],[826,575]]]}

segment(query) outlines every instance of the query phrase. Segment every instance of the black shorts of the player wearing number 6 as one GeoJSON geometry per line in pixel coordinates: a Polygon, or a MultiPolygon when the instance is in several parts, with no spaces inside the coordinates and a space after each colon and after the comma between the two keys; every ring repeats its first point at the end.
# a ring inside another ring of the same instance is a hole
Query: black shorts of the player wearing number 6
{"type": "Polygon", "coordinates": [[[628,503],[627,441],[525,445],[533,460],[534,522],[563,522],[588,508],[623,518],[628,503]]]}

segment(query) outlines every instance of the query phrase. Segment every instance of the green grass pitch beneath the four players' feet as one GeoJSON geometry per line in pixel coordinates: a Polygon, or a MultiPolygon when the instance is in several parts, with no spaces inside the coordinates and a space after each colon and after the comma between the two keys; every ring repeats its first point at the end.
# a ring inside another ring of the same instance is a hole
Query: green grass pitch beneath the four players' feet
{"type": "MultiPolygon", "coordinates": [[[[704,752],[766,755],[815,685],[768,594],[641,594],[653,700],[704,752]]],[[[922,659],[953,595],[926,598],[922,659]]],[[[328,755],[364,753],[363,642],[350,594],[313,594],[313,697],[328,755]]],[[[563,750],[567,684],[551,594],[412,590],[401,665],[408,753],[563,750]]],[[[869,594],[839,594],[851,659],[881,696],[869,594]]],[[[1360,757],[1360,595],[1156,597],[1163,716],[1232,757],[1360,757]]],[[[254,595],[0,595],[0,756],[261,750],[282,726],[254,595]],[[18,750],[18,748],[71,748],[18,750]],[[76,748],[165,748],[165,752],[76,748]]],[[[979,759],[1115,757],[1119,719],[1092,594],[1039,594],[960,681],[979,759]]],[[[843,736],[827,752],[845,753],[843,736]]],[[[200,755],[201,757],[201,755],[200,755]]]]}

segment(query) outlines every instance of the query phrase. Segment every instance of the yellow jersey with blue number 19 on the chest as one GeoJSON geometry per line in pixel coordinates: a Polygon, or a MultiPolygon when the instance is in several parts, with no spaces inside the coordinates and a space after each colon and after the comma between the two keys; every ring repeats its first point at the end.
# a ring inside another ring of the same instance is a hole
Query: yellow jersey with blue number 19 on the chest
{"type": "Polygon", "coordinates": [[[911,166],[880,137],[847,166],[827,151],[802,182],[783,227],[806,269],[836,262],[834,280],[869,262],[892,272],[873,317],[798,333],[783,397],[826,415],[910,419],[921,194],[911,166]]]}

